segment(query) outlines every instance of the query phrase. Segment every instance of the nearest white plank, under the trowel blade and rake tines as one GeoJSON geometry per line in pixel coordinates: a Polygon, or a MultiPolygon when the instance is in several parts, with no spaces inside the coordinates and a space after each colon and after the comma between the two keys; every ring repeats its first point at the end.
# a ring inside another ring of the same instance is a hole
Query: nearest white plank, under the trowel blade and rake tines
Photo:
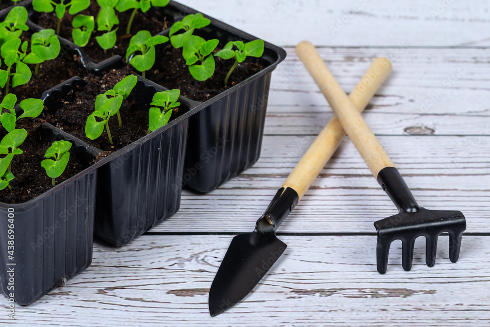
{"type": "MultiPolygon", "coordinates": [[[[386,275],[376,238],[283,236],[285,254],[252,294],[211,318],[208,291],[232,236],[143,236],[123,248],[96,243],[94,261],[65,287],[16,308],[19,326],[463,326],[490,323],[489,237],[465,237],[460,260],[401,268],[393,244],[386,275]]],[[[6,310],[5,302],[1,303],[6,310]]],[[[3,318],[2,318],[3,319],[3,318]]],[[[16,325],[17,326],[17,325],[16,325]]]]}

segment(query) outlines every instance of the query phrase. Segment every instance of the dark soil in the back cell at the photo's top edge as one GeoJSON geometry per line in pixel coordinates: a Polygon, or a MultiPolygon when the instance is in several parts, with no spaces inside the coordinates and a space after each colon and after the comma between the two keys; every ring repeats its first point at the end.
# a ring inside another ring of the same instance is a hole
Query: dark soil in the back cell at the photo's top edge
{"type": "MultiPolygon", "coordinates": [[[[126,26],[129,22],[129,18],[131,16],[131,13],[133,12],[133,9],[129,9],[124,12],[119,12],[116,10],[116,16],[119,19],[119,25],[115,26],[118,27],[118,30],[116,32],[118,40],[114,48],[107,50],[107,53],[104,53],[104,50],[100,48],[96,40],[96,36],[100,36],[104,33],[102,31],[97,31],[97,14],[99,9],[100,7],[97,4],[97,1],[92,0],[90,2],[90,7],[76,14],[94,16],[96,22],[96,30],[92,33],[89,43],[82,48],[83,51],[95,63],[99,63],[116,54],[119,54],[121,57],[125,58],[126,50],[129,46],[129,40],[132,36],[126,34],[126,26]]],[[[167,29],[168,27],[172,26],[172,17],[166,16],[163,12],[164,9],[159,9],[158,7],[150,9],[150,11],[146,13],[142,13],[141,10],[138,10],[136,16],[134,17],[133,24],[131,25],[132,34],[134,35],[140,30],[147,30],[151,33],[151,35],[156,35],[161,31],[167,29]],[[154,14],[150,15],[153,10],[154,14]]],[[[72,42],[72,21],[74,16],[75,15],[69,15],[67,12],[65,17],[61,21],[60,28],[60,36],[72,42]]],[[[37,25],[40,25],[44,28],[52,28],[54,30],[56,30],[56,25],[58,24],[58,17],[54,12],[40,13],[37,20],[33,20],[34,23],[37,25]]]]}

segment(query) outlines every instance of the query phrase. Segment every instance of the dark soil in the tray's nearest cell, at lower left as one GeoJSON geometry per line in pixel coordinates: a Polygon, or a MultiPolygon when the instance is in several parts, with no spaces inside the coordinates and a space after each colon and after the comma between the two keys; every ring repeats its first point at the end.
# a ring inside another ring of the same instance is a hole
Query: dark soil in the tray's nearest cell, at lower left
{"type": "MultiPolygon", "coordinates": [[[[41,161],[46,159],[44,154],[52,144],[51,140],[41,140],[40,130],[36,130],[41,123],[42,120],[36,119],[34,123],[34,120],[29,118],[17,123],[16,128],[27,130],[27,138],[19,147],[24,153],[15,155],[12,160],[12,174],[15,176],[15,179],[10,181],[12,191],[8,187],[0,191],[0,201],[3,203],[23,203],[53,187],[51,177],[46,175],[46,170],[41,167],[41,161]]],[[[3,138],[5,134],[5,129],[2,129],[0,138],[3,138]]],[[[70,155],[65,171],[55,179],[56,185],[86,168],[87,166],[80,164],[74,155],[70,155]]]]}

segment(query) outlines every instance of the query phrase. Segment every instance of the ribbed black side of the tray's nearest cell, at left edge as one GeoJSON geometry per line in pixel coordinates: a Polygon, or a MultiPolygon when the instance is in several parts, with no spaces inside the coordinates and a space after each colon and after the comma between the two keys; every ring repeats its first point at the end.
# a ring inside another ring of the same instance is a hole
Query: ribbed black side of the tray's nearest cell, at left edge
{"type": "Polygon", "coordinates": [[[27,305],[92,262],[97,170],[42,200],[14,207],[14,259],[8,258],[8,204],[0,206],[1,292],[27,305]],[[15,265],[7,265],[15,263],[15,265]],[[8,270],[14,268],[14,281],[8,270]],[[10,283],[10,285],[9,285],[10,283]],[[10,286],[10,289],[9,289],[10,286]],[[12,289],[11,286],[14,288],[12,289]]]}

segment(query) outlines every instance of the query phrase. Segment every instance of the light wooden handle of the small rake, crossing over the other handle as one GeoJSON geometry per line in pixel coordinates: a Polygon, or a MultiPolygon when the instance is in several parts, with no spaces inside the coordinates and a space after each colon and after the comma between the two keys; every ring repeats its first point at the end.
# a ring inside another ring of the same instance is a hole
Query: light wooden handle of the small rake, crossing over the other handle
{"type": "MultiPolygon", "coordinates": [[[[359,107],[343,92],[335,77],[320,58],[315,47],[310,42],[301,42],[296,46],[296,52],[306,69],[315,79],[357,151],[366,161],[372,175],[377,178],[378,173],[383,168],[394,167],[385,149],[379,144],[376,136],[374,136],[361,116],[358,110],[359,107]]],[[[379,64],[380,69],[391,70],[391,63],[388,59],[380,59],[379,64]]],[[[366,78],[366,76],[363,78],[366,78]]],[[[379,85],[375,82],[376,80],[374,80],[373,84],[379,85]]]]}

